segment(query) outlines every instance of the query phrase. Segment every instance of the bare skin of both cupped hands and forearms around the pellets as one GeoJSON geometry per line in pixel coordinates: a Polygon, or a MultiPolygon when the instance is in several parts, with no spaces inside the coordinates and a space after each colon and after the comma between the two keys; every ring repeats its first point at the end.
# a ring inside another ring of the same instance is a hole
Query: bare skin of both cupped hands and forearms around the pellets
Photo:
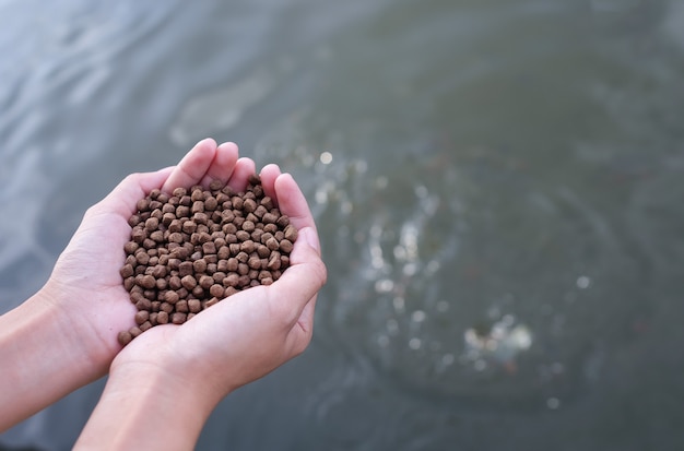
{"type": "Polygon", "coordinates": [[[306,199],[275,165],[260,173],[264,191],[299,230],[282,277],[123,349],[117,341],[134,324],[119,269],[137,201],[213,179],[243,190],[251,174],[235,144],[203,140],[177,166],[131,175],[87,210],[46,285],[0,317],[0,430],[108,372],[76,449],[191,449],[216,403],[306,348],[326,266],[306,199]]]}

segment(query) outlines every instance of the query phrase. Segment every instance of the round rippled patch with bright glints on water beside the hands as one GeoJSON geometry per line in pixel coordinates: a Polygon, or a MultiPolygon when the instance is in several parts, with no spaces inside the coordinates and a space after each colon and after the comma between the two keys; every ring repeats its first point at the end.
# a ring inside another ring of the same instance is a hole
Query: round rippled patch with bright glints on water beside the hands
{"type": "Polygon", "coordinates": [[[595,379],[640,286],[589,201],[447,155],[378,174],[340,165],[316,197],[321,229],[343,224],[325,244],[319,335],[404,390],[493,408],[562,408],[591,382],[587,365],[595,379]]]}

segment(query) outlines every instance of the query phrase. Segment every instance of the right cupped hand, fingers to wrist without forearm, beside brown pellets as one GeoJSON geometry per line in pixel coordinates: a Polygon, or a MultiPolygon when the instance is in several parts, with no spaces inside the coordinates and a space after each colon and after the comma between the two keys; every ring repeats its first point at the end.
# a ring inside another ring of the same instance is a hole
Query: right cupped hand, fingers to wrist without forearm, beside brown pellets
{"type": "MultiPolygon", "coordinates": [[[[181,186],[207,181],[201,173],[177,170],[169,177],[169,187],[176,176],[181,186]]],[[[243,190],[249,174],[253,174],[253,163],[238,161],[228,185],[243,190]]],[[[292,176],[269,165],[260,178],[267,195],[299,232],[290,268],[272,285],[234,294],[181,325],[157,325],[142,333],[116,357],[113,375],[120,371],[144,377],[161,370],[217,402],[306,348],[312,334],[317,293],[327,277],[316,225],[292,176]]]]}

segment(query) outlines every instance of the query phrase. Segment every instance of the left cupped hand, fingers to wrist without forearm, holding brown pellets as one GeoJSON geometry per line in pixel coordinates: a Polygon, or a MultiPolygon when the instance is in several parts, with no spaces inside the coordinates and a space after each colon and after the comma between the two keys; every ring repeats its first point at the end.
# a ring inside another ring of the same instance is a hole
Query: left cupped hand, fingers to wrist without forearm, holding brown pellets
{"type": "Polygon", "coordinates": [[[119,270],[123,245],[130,239],[128,218],[139,199],[155,188],[170,191],[221,179],[244,185],[253,163],[238,161],[237,146],[199,142],[175,167],[133,174],[85,213],[71,241],[59,257],[42,294],[60,314],[64,333],[73,336],[72,352],[89,358],[95,375],[104,375],[121,346],[119,331],[130,328],[135,307],[123,288],[119,270]]]}

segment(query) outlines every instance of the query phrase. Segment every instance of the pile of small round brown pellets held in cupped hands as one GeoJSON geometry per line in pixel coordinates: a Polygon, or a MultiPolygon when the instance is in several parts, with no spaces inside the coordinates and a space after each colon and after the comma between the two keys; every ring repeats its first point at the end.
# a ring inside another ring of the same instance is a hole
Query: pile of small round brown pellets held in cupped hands
{"type": "Polygon", "coordinates": [[[154,325],[182,324],[235,293],[270,285],[290,265],[297,229],[256,175],[244,192],[214,180],[209,189],[155,189],[137,206],[120,270],[137,325],[119,333],[123,346],[154,325]]]}

